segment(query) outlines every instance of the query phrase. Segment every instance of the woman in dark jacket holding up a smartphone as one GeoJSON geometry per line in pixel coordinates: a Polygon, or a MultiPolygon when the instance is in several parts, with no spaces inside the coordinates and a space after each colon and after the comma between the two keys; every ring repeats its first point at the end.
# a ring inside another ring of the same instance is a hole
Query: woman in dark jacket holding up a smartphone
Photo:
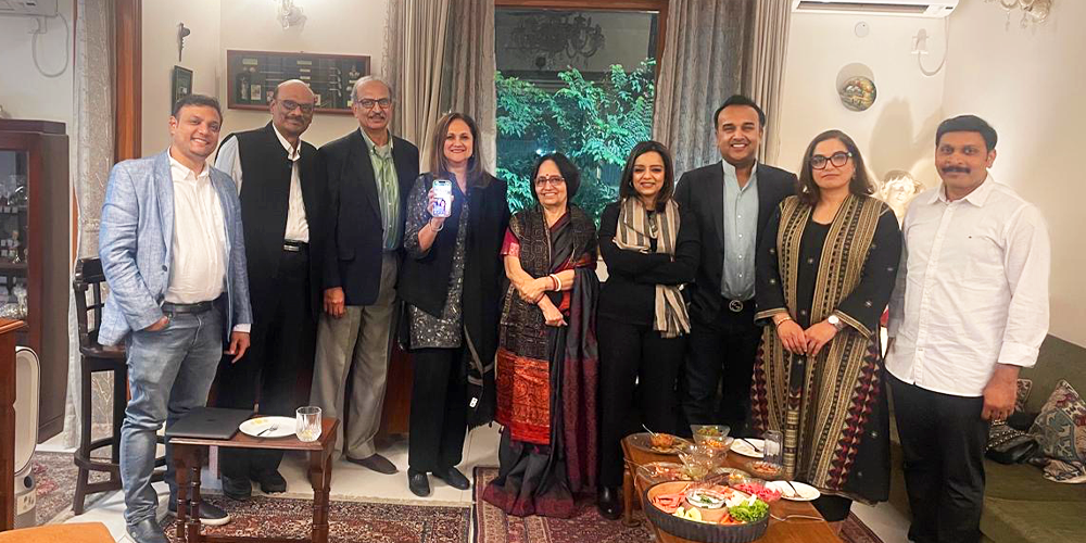
{"type": "MultiPolygon", "coordinates": [[[[443,116],[433,172],[419,176],[407,199],[399,294],[406,302],[401,340],[414,362],[407,485],[418,496],[430,494],[427,473],[459,490],[470,487],[456,469],[469,403],[472,422],[493,416],[492,400],[468,397],[468,375],[493,383],[509,207],[505,182],[482,169],[478,137],[468,115],[443,116]]],[[[492,384],[485,390],[493,394],[492,384]]]]}

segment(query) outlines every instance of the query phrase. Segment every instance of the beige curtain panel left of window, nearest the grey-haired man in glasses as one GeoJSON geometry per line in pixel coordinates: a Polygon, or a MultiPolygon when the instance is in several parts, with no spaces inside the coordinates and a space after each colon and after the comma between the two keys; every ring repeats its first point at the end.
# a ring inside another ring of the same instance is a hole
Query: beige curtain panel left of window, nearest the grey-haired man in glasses
{"type": "Polygon", "coordinates": [[[432,131],[440,116],[445,33],[451,0],[391,0],[382,62],[392,85],[392,130],[415,143],[429,169],[432,131]]]}

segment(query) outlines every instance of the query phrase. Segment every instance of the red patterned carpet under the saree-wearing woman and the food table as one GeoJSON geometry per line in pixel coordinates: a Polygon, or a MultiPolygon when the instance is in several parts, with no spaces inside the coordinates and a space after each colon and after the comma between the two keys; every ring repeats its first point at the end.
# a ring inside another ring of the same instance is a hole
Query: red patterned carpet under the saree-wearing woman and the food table
{"type": "MultiPolygon", "coordinates": [[[[649,543],[656,536],[648,520],[640,509],[634,513],[639,521],[627,527],[618,520],[607,520],[596,512],[595,501],[585,496],[578,504],[580,513],[571,519],[546,517],[509,517],[502,509],[482,500],[487,483],[497,477],[497,468],[476,468],[475,472],[475,543],[649,543]]],[[[842,526],[841,538],[845,543],[882,543],[855,515],[849,515],[842,526]]]]}

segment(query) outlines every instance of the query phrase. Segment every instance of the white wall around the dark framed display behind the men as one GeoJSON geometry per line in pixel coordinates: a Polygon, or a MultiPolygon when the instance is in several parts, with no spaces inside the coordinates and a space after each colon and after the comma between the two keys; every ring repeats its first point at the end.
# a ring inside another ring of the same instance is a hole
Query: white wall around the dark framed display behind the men
{"type": "MultiPolygon", "coordinates": [[[[227,103],[226,50],[307,51],[366,54],[380,74],[387,0],[298,0],[306,15],[302,28],[283,30],[267,0],[189,0],[143,3],[143,154],[169,143],[169,74],[177,64],[177,23],[192,29],[185,40],[181,66],[193,71],[195,92],[227,103]]],[[[227,109],[223,130],[256,128],[268,114],[227,109]]],[[[357,128],[350,115],[317,114],[305,140],[320,146],[357,128]]]]}

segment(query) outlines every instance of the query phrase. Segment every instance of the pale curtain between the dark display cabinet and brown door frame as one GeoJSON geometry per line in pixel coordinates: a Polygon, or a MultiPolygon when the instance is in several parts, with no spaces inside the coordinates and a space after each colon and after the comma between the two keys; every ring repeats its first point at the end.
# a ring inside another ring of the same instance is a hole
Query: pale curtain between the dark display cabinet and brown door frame
{"type": "MultiPolygon", "coordinates": [[[[77,255],[98,255],[98,229],[105,186],[113,165],[113,0],[78,0],[73,63],[74,123],[70,128],[71,182],[79,210],[77,255]]],[[[79,338],[75,320],[75,298],[68,289],[68,382],[64,407],[64,442],[79,441],[81,416],[79,338]]],[[[94,376],[92,421],[110,420],[113,397],[112,376],[94,376]]]]}

